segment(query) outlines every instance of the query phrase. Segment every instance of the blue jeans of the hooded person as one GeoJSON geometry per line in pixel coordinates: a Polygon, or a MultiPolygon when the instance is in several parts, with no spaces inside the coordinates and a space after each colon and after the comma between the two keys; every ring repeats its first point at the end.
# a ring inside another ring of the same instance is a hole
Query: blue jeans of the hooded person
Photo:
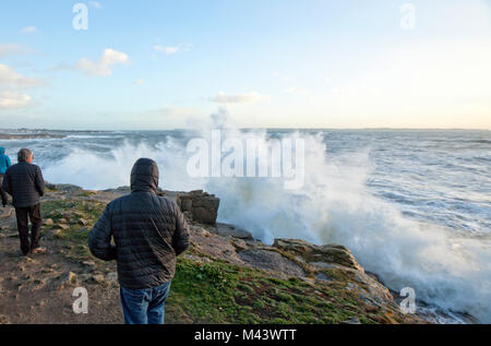
{"type": "Polygon", "coordinates": [[[152,288],[120,287],[125,324],[164,324],[165,302],[170,282],[152,288]]]}

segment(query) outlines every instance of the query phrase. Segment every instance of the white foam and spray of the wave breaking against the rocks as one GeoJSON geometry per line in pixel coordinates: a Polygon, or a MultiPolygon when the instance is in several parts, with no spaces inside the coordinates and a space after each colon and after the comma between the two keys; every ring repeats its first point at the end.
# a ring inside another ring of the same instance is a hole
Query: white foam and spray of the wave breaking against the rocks
{"type": "MultiPolygon", "coordinates": [[[[251,134],[230,130],[228,135],[251,134]]],[[[255,135],[267,141],[264,132],[255,135]]],[[[463,236],[403,216],[397,206],[367,188],[368,151],[333,156],[326,153],[322,135],[303,138],[306,180],[299,191],[285,190],[280,179],[191,179],[185,172],[185,146],[171,136],[155,146],[127,142],[104,155],[75,148],[45,165],[45,176],[86,189],[116,188],[129,184],[139,157],[151,157],[159,165],[161,188],[217,194],[221,222],[243,227],[268,243],[274,238],[301,238],[344,244],[390,288],[412,287],[421,300],[491,322],[489,237],[463,236]]]]}

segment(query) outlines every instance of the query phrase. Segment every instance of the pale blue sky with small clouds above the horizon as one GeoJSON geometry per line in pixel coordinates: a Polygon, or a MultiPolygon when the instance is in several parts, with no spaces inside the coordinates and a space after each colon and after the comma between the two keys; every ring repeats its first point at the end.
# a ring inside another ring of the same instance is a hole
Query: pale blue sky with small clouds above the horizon
{"type": "Polygon", "coordinates": [[[2,1],[0,128],[167,130],[217,111],[489,130],[491,0],[2,1]]]}

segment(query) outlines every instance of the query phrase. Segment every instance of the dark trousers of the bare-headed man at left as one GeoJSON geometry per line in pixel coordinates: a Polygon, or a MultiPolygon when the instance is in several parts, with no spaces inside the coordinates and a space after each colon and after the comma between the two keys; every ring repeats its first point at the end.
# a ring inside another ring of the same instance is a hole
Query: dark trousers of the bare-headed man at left
{"type": "Polygon", "coordinates": [[[21,238],[22,253],[27,254],[32,250],[39,248],[40,226],[43,223],[40,216],[40,205],[27,207],[16,207],[15,216],[17,218],[19,236],[21,238]],[[31,219],[31,240],[28,220],[31,219]]]}

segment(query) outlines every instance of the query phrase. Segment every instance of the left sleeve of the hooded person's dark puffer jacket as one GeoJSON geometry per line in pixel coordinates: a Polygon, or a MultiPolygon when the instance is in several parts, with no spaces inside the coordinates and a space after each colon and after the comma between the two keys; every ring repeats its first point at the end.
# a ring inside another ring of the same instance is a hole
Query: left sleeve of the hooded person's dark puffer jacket
{"type": "Polygon", "coordinates": [[[103,261],[116,260],[116,247],[111,244],[111,212],[110,205],[108,205],[88,232],[88,248],[92,254],[103,261]]]}

